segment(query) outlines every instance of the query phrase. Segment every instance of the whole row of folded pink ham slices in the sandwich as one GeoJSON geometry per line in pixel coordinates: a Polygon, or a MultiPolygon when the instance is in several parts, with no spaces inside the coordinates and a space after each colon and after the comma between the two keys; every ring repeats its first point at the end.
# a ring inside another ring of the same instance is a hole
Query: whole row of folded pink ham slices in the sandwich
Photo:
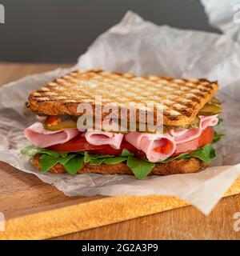
{"type": "MultiPolygon", "coordinates": [[[[121,147],[122,138],[125,136],[127,142],[142,150],[150,162],[163,161],[174,154],[176,148],[182,143],[190,142],[198,138],[208,126],[218,124],[217,115],[201,116],[200,126],[196,129],[170,130],[166,134],[147,134],[132,131],[129,134],[116,134],[103,132],[101,130],[87,130],[81,135],[85,136],[86,141],[92,145],[110,145],[118,150],[121,147]]],[[[42,122],[35,122],[32,126],[26,128],[26,138],[35,146],[42,148],[62,144],[76,137],[80,131],[78,129],[65,129],[50,131],[45,130],[42,122]]]]}

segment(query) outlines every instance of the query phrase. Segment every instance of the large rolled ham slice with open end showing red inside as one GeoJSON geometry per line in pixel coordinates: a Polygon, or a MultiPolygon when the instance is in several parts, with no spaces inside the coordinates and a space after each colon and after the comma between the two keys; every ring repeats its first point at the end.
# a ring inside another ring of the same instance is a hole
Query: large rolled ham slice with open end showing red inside
{"type": "Polygon", "coordinates": [[[138,150],[146,154],[150,162],[163,161],[174,154],[176,143],[170,134],[146,134],[132,131],[125,136],[126,141],[134,145],[138,150]],[[157,152],[154,149],[165,146],[168,150],[165,153],[157,152]]]}

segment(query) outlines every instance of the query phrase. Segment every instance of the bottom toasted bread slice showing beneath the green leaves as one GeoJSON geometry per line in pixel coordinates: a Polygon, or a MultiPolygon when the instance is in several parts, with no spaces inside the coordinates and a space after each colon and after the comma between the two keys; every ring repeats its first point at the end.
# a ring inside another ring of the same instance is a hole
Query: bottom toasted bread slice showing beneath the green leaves
{"type": "MultiPolygon", "coordinates": [[[[33,165],[41,170],[39,165],[41,154],[36,154],[33,158],[33,165]]],[[[167,163],[158,163],[154,166],[154,169],[150,172],[151,175],[168,175],[168,174],[190,174],[198,172],[208,166],[205,162],[198,158],[189,159],[176,159],[167,163]]],[[[57,163],[55,166],[51,167],[50,172],[54,174],[63,174],[66,169],[62,164],[57,163]]],[[[84,164],[81,170],[78,170],[78,174],[95,173],[95,174],[131,174],[132,170],[126,165],[126,163],[121,162],[118,164],[105,164],[94,166],[89,163],[84,164]]]]}

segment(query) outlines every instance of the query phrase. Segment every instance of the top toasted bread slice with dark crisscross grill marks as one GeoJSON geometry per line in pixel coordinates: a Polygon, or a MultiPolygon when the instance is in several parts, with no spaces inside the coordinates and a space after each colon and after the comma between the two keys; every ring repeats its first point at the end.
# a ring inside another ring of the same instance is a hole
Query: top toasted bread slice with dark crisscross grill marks
{"type": "MultiPolygon", "coordinates": [[[[78,116],[79,103],[95,106],[95,97],[101,96],[101,107],[114,102],[119,111],[122,107],[128,110],[133,102],[137,122],[140,122],[141,104],[151,101],[163,105],[164,125],[187,126],[217,90],[218,82],[204,78],[139,77],[102,70],[76,70],[32,92],[27,105],[40,114],[78,116]]],[[[156,111],[153,110],[154,121],[156,111]]],[[[102,118],[106,115],[102,114],[102,118]]],[[[126,121],[130,121],[129,115],[126,121]]]]}

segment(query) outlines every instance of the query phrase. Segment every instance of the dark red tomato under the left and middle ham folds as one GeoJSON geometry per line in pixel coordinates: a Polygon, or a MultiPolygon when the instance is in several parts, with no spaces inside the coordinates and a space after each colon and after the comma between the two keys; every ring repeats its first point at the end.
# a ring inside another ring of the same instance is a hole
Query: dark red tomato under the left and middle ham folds
{"type": "Polygon", "coordinates": [[[87,142],[86,138],[82,137],[81,134],[71,139],[69,142],[57,144],[54,146],[49,146],[47,149],[58,151],[58,152],[91,151],[91,153],[93,154],[111,154],[111,155],[122,154],[123,149],[129,150],[132,153],[138,151],[133,145],[131,145],[129,142],[126,142],[125,140],[122,140],[122,144],[119,150],[115,150],[109,145],[94,146],[94,145],[91,145],[89,142],[87,142]]]}

